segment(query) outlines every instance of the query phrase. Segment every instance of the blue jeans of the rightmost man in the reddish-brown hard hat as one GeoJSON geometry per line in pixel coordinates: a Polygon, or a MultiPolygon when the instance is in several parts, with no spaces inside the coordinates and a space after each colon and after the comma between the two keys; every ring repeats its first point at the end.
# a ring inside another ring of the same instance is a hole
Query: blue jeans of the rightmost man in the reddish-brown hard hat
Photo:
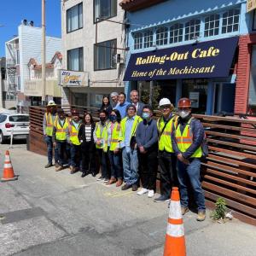
{"type": "Polygon", "coordinates": [[[189,160],[190,164],[184,165],[182,162],[177,160],[177,178],[180,186],[181,205],[183,207],[189,206],[189,195],[188,195],[188,181],[192,185],[192,189],[195,195],[195,203],[197,204],[198,210],[205,210],[205,196],[201,188],[200,181],[200,167],[201,161],[198,159],[189,160]]]}

